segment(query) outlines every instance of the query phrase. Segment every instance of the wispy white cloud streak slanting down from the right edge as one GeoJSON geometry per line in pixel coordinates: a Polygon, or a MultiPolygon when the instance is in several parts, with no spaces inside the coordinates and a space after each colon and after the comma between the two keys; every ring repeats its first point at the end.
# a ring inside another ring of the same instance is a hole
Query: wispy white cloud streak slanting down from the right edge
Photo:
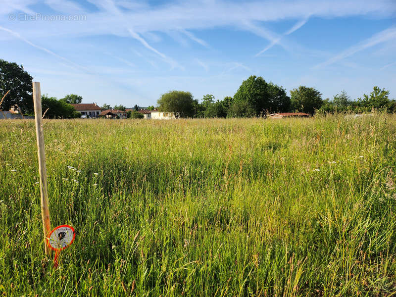
{"type": "Polygon", "coordinates": [[[396,27],[393,26],[393,27],[385,29],[379,33],[374,34],[372,37],[360,42],[359,44],[357,44],[353,47],[350,47],[350,48],[340,52],[339,54],[328,59],[327,61],[317,64],[316,66],[313,67],[313,69],[318,69],[318,68],[322,68],[325,66],[329,66],[339,60],[345,59],[345,58],[355,54],[356,52],[374,47],[380,43],[383,43],[383,42],[386,42],[389,40],[394,40],[394,39],[396,39],[396,27]]]}

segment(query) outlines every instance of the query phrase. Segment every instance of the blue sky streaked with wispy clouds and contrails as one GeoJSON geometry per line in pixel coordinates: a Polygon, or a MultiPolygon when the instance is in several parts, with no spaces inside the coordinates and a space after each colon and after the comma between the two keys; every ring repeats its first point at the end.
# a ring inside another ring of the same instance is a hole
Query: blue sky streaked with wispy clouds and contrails
{"type": "Polygon", "coordinates": [[[43,94],[155,105],[234,96],[250,75],[323,99],[396,98],[396,0],[0,0],[0,58],[43,94]]]}

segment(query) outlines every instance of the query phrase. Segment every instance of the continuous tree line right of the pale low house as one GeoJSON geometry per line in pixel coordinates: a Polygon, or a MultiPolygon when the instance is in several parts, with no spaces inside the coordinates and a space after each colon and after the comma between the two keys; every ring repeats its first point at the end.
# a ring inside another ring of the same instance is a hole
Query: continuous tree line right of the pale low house
{"type": "Polygon", "coordinates": [[[396,100],[389,99],[389,91],[375,86],[369,95],[351,100],[342,91],[333,99],[322,99],[312,87],[299,86],[287,95],[283,87],[266,82],[262,77],[250,76],[243,81],[234,97],[215,100],[213,95],[203,96],[201,102],[190,92],[170,91],[157,101],[159,109],[172,111],[175,117],[256,117],[276,112],[360,113],[376,110],[395,112],[396,100]]]}

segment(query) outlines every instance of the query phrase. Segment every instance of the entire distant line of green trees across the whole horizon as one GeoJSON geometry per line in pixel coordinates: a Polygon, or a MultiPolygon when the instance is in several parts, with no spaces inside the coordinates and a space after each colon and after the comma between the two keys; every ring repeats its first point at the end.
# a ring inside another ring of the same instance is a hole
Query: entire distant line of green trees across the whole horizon
{"type": "MultiPolygon", "coordinates": [[[[17,105],[25,114],[33,114],[32,76],[24,71],[22,65],[10,63],[0,59],[0,95],[9,93],[1,102],[0,109],[8,110],[17,105]]],[[[81,103],[82,97],[69,94],[62,99],[42,96],[43,110],[51,118],[74,118],[81,114],[71,105],[81,103]]],[[[290,91],[288,96],[282,86],[266,82],[261,76],[250,76],[243,81],[233,97],[215,100],[213,95],[205,95],[200,100],[194,99],[190,92],[170,91],[157,100],[158,109],[171,111],[176,118],[214,118],[214,117],[256,117],[274,112],[305,112],[334,113],[368,112],[373,108],[381,111],[395,112],[396,100],[389,99],[389,91],[375,86],[373,91],[362,98],[352,100],[345,91],[335,95],[332,99],[322,99],[322,94],[312,87],[299,86],[290,91]]],[[[101,109],[112,108],[103,104],[101,109]]],[[[126,110],[124,105],[114,105],[113,109],[126,110]]],[[[153,110],[154,106],[148,109],[153,110]]],[[[141,118],[139,107],[129,110],[130,118],[141,118]]]]}

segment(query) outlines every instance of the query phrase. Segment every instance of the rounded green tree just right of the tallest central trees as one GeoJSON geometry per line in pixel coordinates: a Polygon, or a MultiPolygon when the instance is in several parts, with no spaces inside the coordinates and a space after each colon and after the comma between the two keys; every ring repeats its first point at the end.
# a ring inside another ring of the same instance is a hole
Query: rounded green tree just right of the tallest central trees
{"type": "Polygon", "coordinates": [[[313,114],[323,103],[322,94],[314,88],[299,86],[290,91],[290,95],[292,109],[309,114],[313,114]]]}

